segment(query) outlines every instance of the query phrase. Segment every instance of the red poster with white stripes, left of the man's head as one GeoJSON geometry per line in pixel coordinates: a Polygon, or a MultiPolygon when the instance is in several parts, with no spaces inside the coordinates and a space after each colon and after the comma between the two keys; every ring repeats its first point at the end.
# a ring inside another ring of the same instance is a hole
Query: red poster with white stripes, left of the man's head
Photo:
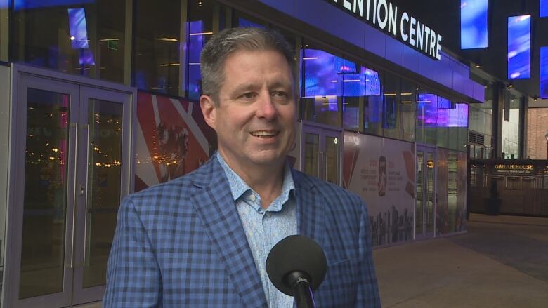
{"type": "Polygon", "coordinates": [[[137,120],[136,192],[195,170],[216,144],[197,102],[139,92],[137,120]]]}

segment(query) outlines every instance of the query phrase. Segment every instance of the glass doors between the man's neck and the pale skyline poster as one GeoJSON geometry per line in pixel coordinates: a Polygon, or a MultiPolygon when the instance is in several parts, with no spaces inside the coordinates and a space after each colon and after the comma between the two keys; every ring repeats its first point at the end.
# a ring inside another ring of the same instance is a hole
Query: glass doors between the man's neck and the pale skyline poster
{"type": "Polygon", "coordinates": [[[301,122],[301,169],[308,175],[341,185],[339,128],[301,122]]]}

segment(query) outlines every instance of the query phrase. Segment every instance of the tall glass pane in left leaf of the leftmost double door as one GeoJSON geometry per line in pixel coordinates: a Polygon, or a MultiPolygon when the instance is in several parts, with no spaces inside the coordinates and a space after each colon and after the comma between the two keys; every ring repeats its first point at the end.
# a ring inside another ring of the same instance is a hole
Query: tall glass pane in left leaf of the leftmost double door
{"type": "Polygon", "coordinates": [[[28,89],[20,299],[63,290],[69,101],[28,89]]]}

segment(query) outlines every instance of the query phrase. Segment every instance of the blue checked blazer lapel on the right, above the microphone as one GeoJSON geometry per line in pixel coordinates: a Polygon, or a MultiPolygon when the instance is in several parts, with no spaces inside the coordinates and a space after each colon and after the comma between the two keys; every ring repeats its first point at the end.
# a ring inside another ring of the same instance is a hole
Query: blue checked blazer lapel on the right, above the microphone
{"type": "Polygon", "coordinates": [[[321,247],[324,241],[325,202],[313,182],[292,169],[295,182],[297,229],[299,234],[314,239],[321,247]]]}

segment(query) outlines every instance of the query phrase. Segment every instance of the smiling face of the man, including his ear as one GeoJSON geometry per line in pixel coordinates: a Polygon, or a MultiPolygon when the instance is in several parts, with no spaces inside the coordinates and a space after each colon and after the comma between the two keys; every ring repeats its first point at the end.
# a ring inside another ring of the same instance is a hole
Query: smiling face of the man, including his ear
{"type": "Polygon", "coordinates": [[[235,171],[282,166],[295,139],[296,103],[291,68],[276,51],[237,51],[224,66],[218,106],[200,98],[218,150],[235,171]],[[273,165],[275,164],[275,165],[273,165]]]}

